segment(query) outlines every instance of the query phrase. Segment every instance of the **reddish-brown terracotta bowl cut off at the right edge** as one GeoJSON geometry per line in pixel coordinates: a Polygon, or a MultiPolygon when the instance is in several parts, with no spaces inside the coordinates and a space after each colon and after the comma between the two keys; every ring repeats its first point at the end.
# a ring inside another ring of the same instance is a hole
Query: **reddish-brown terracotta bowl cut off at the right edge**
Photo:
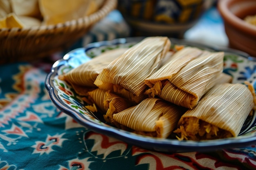
{"type": "Polygon", "coordinates": [[[244,21],[246,16],[256,15],[256,0],[219,0],[218,10],[229,46],[256,57],[256,25],[244,21]]]}

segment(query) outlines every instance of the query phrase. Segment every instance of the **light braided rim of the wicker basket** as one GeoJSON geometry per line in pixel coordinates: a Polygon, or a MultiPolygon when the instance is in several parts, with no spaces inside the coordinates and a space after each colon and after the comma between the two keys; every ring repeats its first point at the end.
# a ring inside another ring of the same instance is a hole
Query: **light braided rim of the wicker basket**
{"type": "MultiPolygon", "coordinates": [[[[19,31],[19,32],[28,32],[30,30],[37,30],[37,31],[47,31],[52,29],[64,29],[66,27],[70,26],[90,26],[91,24],[99,21],[102,19],[107,13],[112,11],[117,7],[117,0],[106,0],[102,7],[95,11],[94,13],[87,15],[85,17],[80,17],[74,20],[66,21],[63,23],[58,24],[49,24],[49,25],[40,25],[40,26],[31,26],[31,27],[25,27],[25,28],[0,28],[1,32],[11,32],[11,31],[19,31]]],[[[33,33],[32,33],[33,34],[33,33]]],[[[36,34],[36,32],[34,32],[36,34]]]]}

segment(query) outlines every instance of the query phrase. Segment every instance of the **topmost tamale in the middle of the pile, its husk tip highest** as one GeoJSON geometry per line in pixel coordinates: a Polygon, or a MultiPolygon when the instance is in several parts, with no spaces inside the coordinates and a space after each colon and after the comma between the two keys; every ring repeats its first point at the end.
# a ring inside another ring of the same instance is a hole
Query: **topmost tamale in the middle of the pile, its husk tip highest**
{"type": "Polygon", "coordinates": [[[146,97],[144,80],[157,71],[170,46],[167,37],[145,38],[104,68],[94,84],[139,103],[146,97]]]}

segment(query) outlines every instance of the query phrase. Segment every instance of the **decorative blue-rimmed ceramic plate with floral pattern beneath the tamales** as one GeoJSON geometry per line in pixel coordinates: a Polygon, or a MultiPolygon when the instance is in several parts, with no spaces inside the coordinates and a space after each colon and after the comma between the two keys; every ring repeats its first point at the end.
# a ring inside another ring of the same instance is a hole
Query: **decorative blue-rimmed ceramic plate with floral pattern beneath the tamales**
{"type": "MultiPolygon", "coordinates": [[[[128,144],[160,152],[210,151],[223,148],[245,147],[256,142],[256,114],[247,118],[238,137],[209,141],[179,141],[177,139],[157,139],[136,135],[106,124],[100,114],[93,115],[84,106],[85,102],[74,92],[72,86],[58,79],[58,75],[67,73],[72,68],[87,62],[91,57],[103,51],[130,47],[143,38],[121,38],[89,44],[85,48],[75,49],[67,53],[63,59],[56,61],[52,71],[47,75],[45,86],[53,103],[64,113],[72,116],[83,126],[110,137],[115,137],[128,144]],[[98,118],[96,118],[98,117],[98,118]]],[[[225,51],[224,72],[233,76],[233,83],[251,82],[256,88],[256,61],[246,53],[226,48],[205,46],[171,39],[172,44],[195,46],[208,51],[225,51]]]]}

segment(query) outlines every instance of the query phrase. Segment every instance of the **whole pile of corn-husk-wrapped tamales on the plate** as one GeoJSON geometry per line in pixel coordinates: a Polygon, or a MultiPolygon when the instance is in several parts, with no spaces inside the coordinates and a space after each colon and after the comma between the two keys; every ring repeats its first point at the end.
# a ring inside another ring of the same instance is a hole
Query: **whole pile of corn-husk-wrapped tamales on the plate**
{"type": "Polygon", "coordinates": [[[96,108],[85,107],[117,128],[159,138],[174,132],[180,140],[236,137],[255,93],[231,84],[232,77],[222,73],[223,58],[223,52],[195,47],[173,51],[167,37],[148,37],[129,49],[102,53],[63,77],[87,87],[80,94],[96,108]]]}

